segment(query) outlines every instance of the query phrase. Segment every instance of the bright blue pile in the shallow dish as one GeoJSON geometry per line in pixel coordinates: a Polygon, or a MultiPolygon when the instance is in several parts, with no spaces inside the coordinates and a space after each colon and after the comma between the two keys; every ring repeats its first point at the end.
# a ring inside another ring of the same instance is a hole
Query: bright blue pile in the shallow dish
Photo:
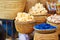
{"type": "Polygon", "coordinates": [[[56,27],[47,23],[42,23],[42,24],[36,25],[35,28],[39,30],[49,30],[49,29],[55,29],[56,27]]]}

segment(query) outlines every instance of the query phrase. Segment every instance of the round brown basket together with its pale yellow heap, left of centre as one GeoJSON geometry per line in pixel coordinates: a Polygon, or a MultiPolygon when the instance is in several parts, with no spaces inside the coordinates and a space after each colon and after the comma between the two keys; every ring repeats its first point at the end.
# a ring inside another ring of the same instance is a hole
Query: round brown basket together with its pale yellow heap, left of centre
{"type": "Polygon", "coordinates": [[[28,34],[33,32],[35,25],[34,17],[30,14],[19,12],[15,20],[16,30],[19,33],[28,34]]]}

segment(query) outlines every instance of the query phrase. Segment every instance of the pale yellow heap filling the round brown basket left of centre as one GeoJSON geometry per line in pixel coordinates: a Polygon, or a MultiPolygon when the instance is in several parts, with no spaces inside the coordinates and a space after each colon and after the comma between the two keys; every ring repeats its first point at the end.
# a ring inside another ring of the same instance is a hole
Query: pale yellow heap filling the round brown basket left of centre
{"type": "Polygon", "coordinates": [[[25,12],[20,12],[17,14],[16,20],[18,20],[19,22],[29,22],[34,21],[34,17],[25,12]]]}

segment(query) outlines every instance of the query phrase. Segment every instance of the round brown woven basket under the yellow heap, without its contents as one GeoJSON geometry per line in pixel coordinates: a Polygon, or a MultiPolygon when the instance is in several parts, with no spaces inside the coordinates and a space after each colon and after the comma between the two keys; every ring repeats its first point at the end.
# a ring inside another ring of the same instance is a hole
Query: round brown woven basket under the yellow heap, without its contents
{"type": "Polygon", "coordinates": [[[23,34],[28,34],[33,32],[34,25],[35,25],[35,22],[22,23],[22,22],[18,22],[17,20],[15,21],[16,30],[23,34]]]}

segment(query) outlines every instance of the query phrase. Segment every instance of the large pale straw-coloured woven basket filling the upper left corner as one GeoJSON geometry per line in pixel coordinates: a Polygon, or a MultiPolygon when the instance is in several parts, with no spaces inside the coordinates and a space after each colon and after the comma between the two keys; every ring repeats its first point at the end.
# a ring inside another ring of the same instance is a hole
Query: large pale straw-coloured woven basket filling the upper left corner
{"type": "Polygon", "coordinates": [[[14,19],[17,12],[24,10],[26,0],[0,0],[0,18],[14,19]]]}

